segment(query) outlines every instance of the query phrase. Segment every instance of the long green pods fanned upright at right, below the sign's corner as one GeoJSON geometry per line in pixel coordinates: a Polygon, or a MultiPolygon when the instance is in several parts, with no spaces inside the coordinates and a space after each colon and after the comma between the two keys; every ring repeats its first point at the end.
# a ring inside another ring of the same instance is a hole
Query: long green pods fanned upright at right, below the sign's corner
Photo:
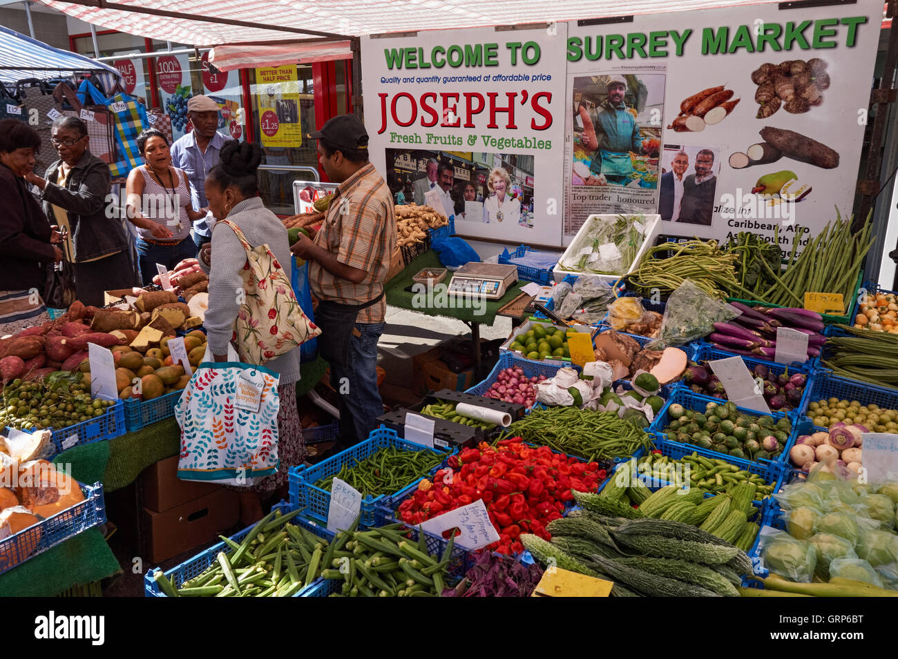
{"type": "Polygon", "coordinates": [[[857,293],[854,285],[860,264],[873,246],[870,216],[867,215],[858,233],[851,230],[851,222],[852,218],[843,220],[836,209],[835,221],[827,224],[823,233],[796,258],[798,244],[804,236],[797,231],[784,273],[773,273],[768,264],[762,263],[774,283],[754,299],[781,307],[802,307],[806,292],[841,293],[845,304],[850,305],[857,293]]]}

